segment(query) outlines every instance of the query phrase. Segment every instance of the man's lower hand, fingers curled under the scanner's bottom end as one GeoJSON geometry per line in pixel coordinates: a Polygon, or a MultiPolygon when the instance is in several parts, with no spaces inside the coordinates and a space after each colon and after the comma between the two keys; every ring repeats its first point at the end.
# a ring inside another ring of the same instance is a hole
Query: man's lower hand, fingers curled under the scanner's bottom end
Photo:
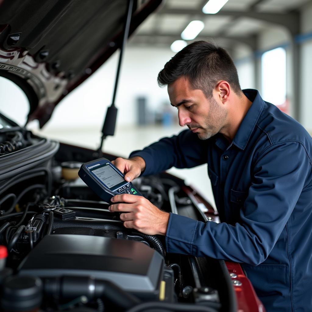
{"type": "Polygon", "coordinates": [[[133,228],[148,235],[166,235],[169,213],[161,211],[143,196],[120,194],[112,197],[117,202],[108,208],[120,214],[124,227],[133,228]]]}

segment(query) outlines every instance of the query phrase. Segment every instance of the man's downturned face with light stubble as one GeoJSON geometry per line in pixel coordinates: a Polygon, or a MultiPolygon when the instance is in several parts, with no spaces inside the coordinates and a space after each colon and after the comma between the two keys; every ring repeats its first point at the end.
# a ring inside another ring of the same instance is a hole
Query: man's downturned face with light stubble
{"type": "Polygon", "coordinates": [[[168,95],[171,105],[178,109],[179,125],[187,125],[199,139],[209,139],[225,125],[227,110],[214,97],[207,100],[202,90],[192,89],[187,78],[180,77],[168,85],[168,95]]]}

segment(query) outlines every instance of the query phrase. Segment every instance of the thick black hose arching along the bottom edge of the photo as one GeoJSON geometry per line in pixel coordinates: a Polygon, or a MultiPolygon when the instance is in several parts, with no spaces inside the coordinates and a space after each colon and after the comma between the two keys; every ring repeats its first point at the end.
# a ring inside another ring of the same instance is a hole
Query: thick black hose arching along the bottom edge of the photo
{"type": "Polygon", "coordinates": [[[187,304],[187,303],[168,303],[168,302],[144,302],[139,305],[134,306],[133,308],[127,310],[127,312],[148,312],[149,310],[159,310],[159,311],[178,311],[178,312],[217,312],[217,310],[196,304],[187,304]]]}

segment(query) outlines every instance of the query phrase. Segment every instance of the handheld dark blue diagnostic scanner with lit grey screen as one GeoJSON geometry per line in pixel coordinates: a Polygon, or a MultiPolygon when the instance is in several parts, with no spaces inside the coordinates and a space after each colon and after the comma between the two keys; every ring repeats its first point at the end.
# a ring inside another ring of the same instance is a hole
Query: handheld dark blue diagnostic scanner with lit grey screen
{"type": "Polygon", "coordinates": [[[124,174],[106,158],[82,164],[78,175],[107,203],[111,203],[110,199],[118,194],[128,193],[142,196],[131,182],[124,179],[124,174]]]}

